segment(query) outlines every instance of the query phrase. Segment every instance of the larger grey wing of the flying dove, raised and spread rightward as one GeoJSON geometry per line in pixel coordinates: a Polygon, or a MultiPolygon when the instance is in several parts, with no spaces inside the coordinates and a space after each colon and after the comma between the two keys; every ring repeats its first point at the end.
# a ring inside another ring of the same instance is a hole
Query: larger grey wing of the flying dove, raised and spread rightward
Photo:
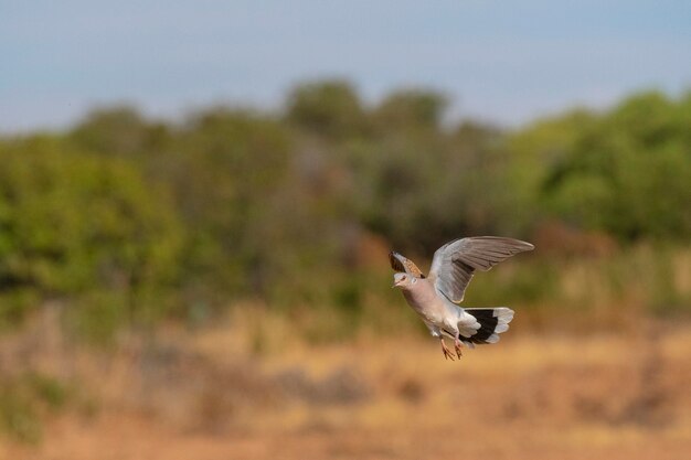
{"type": "Polygon", "coordinates": [[[514,254],[532,249],[530,243],[499,236],[455,239],[434,253],[429,280],[437,292],[458,303],[475,270],[487,271],[514,254]]]}

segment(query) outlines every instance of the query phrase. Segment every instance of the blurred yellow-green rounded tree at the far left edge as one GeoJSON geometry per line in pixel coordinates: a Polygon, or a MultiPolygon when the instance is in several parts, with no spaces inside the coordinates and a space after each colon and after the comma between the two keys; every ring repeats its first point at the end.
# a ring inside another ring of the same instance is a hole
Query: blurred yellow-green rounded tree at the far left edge
{"type": "Polygon", "coordinates": [[[162,190],[56,138],[4,142],[0,161],[0,295],[113,291],[132,319],[172,307],[147,297],[177,279],[183,238],[162,190]]]}

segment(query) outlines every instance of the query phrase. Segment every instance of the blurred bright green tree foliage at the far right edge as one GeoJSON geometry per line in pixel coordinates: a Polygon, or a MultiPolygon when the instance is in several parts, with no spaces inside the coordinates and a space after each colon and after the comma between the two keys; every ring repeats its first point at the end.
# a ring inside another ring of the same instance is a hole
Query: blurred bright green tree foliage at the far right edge
{"type": "Polygon", "coordinates": [[[625,242],[688,239],[689,117],[684,100],[645,93],[600,115],[574,114],[529,128],[515,140],[533,150],[522,153],[533,156],[533,168],[519,171],[514,182],[523,204],[625,242]]]}

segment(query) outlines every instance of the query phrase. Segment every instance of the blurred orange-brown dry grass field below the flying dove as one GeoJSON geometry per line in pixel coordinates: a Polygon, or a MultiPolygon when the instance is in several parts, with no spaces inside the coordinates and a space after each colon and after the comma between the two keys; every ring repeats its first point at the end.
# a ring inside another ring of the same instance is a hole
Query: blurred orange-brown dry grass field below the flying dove
{"type": "Polygon", "coordinates": [[[44,417],[40,442],[2,438],[0,458],[688,458],[689,325],[584,336],[519,325],[460,362],[418,336],[257,354],[221,324],[100,355],[38,329],[34,343],[6,341],[3,363],[73,382],[75,403],[44,417]]]}

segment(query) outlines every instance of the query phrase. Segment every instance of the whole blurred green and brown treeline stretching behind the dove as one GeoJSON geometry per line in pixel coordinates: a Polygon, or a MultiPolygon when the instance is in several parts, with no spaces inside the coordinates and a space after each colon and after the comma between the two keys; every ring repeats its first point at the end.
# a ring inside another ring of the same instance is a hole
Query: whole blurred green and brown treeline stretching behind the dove
{"type": "Polygon", "coordinates": [[[0,323],[49,303],[95,336],[203,322],[237,299],[359,311],[372,274],[389,275],[370,258],[461,235],[538,239],[550,258],[689,243],[691,93],[513,131],[449,124],[447,105],[411,89],[371,106],[334,81],[277,113],[169,122],[114,107],[4,136],[0,323]]]}

